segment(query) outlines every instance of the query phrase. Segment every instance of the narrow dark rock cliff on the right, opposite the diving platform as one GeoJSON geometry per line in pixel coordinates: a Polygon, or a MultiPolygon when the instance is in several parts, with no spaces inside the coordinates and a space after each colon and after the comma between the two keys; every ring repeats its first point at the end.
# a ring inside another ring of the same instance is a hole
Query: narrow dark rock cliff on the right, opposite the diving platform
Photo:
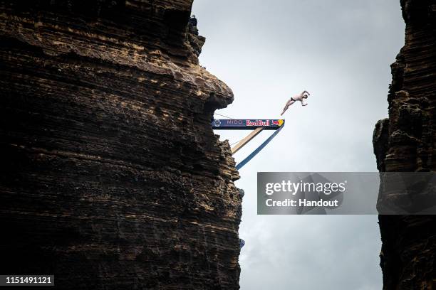
{"type": "MultiPolygon", "coordinates": [[[[375,156],[379,171],[435,171],[436,1],[400,2],[405,46],[391,66],[389,119],[375,126],[375,156]]],[[[383,289],[435,289],[436,217],[380,215],[379,223],[383,289]]]]}

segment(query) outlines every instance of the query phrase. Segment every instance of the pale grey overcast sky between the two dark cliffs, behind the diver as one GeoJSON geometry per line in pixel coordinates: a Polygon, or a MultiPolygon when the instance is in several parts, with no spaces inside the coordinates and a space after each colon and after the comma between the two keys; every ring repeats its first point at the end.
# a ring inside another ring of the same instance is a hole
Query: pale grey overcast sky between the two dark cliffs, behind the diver
{"type": "MultiPolygon", "coordinates": [[[[376,171],[373,128],[387,117],[390,64],[404,43],[399,0],[194,0],[192,13],[207,38],[201,65],[234,92],[219,114],[279,119],[291,95],[311,92],[240,171],[241,288],[381,289],[377,216],[256,215],[256,173],[376,171]]],[[[216,133],[232,143],[249,132],[216,133]]]]}

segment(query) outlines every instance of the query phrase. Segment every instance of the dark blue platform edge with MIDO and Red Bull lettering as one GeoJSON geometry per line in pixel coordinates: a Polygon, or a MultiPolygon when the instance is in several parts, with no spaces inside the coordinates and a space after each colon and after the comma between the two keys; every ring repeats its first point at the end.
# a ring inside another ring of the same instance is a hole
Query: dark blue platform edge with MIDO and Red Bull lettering
{"type": "Polygon", "coordinates": [[[284,119],[214,119],[215,130],[251,130],[263,127],[264,130],[276,130],[284,124],[284,119]]]}

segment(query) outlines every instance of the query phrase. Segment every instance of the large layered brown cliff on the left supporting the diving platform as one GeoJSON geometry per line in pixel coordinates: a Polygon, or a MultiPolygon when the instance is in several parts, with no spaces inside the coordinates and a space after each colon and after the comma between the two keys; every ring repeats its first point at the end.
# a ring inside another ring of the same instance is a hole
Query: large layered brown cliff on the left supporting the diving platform
{"type": "Polygon", "coordinates": [[[191,6],[1,2],[1,274],[239,289],[239,176],[209,125],[233,95],[191,6]]]}

